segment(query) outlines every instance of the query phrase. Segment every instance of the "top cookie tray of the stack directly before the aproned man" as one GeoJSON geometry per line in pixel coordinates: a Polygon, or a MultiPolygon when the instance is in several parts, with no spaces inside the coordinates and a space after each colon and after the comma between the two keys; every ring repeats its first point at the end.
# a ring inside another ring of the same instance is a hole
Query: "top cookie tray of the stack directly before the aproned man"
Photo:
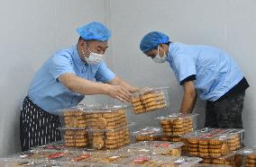
{"type": "Polygon", "coordinates": [[[59,110],[62,127],[87,127],[92,129],[114,129],[127,125],[124,105],[78,105],[59,110]]]}

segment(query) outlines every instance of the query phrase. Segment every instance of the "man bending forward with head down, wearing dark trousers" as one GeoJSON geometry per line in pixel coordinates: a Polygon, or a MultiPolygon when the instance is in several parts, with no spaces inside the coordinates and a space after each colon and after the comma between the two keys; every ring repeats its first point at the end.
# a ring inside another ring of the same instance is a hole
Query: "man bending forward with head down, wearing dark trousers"
{"type": "Polygon", "coordinates": [[[172,43],[159,31],[146,34],[140,48],[154,62],[169,63],[184,88],[180,112],[192,112],[198,92],[206,100],[206,127],[242,128],[243,100],[249,84],[227,53],[209,46],[172,43]]]}

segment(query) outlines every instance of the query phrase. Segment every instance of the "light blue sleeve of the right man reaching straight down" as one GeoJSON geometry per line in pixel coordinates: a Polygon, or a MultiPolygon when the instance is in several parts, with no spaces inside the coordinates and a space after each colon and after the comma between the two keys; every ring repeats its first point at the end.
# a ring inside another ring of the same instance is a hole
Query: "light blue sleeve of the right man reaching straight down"
{"type": "Polygon", "coordinates": [[[181,84],[188,76],[197,75],[196,63],[189,55],[178,55],[174,58],[175,75],[181,84]]]}

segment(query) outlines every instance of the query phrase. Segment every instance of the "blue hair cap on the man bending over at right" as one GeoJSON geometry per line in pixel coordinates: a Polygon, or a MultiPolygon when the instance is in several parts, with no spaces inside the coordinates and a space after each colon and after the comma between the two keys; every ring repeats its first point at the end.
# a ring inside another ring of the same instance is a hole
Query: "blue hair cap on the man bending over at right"
{"type": "Polygon", "coordinates": [[[168,43],[169,37],[160,31],[151,31],[146,34],[141,41],[140,48],[142,52],[156,48],[160,43],[168,43]]]}

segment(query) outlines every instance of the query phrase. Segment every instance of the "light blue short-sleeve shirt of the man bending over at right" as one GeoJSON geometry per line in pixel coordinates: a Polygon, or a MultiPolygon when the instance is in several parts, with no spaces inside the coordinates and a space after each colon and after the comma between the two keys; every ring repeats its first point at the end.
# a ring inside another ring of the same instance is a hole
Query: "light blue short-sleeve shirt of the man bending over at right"
{"type": "Polygon", "coordinates": [[[179,83],[196,75],[194,84],[203,100],[218,100],[243,78],[233,58],[214,47],[171,43],[168,62],[179,83]]]}

